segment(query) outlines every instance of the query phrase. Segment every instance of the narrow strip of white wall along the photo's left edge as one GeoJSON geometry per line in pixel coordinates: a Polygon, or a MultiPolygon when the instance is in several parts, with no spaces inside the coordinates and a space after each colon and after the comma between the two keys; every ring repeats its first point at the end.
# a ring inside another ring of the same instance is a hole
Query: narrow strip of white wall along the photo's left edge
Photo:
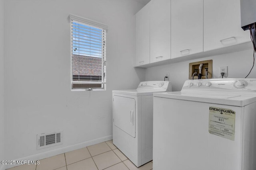
{"type": "Polygon", "coordinates": [[[0,0],[0,160],[4,160],[4,0],[0,0]]]}

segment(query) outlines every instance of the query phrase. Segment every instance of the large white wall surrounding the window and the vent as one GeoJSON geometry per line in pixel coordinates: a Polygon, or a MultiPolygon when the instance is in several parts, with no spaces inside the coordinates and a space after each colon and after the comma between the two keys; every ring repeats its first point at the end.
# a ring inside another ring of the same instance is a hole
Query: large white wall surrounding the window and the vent
{"type": "Polygon", "coordinates": [[[112,137],[112,90],[145,80],[145,70],[133,67],[141,8],[134,0],[5,0],[7,160],[112,137]],[[69,14],[108,25],[106,91],[70,91],[69,14]],[[36,150],[36,134],[58,130],[63,145],[36,150]]]}

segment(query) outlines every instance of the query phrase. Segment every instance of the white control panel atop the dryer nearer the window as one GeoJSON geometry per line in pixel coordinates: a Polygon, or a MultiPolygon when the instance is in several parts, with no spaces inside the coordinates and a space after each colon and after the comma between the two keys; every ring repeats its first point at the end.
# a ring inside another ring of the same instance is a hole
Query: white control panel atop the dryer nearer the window
{"type": "Polygon", "coordinates": [[[168,81],[147,81],[140,82],[137,89],[162,89],[166,91],[172,90],[171,82],[168,81]]]}

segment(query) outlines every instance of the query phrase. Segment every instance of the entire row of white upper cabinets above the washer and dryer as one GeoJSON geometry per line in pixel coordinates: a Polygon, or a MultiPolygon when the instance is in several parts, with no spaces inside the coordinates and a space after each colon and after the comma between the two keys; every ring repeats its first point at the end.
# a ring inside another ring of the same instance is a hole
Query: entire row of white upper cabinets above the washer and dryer
{"type": "Polygon", "coordinates": [[[135,33],[138,67],[252,48],[240,0],[151,0],[136,14],[135,33]]]}

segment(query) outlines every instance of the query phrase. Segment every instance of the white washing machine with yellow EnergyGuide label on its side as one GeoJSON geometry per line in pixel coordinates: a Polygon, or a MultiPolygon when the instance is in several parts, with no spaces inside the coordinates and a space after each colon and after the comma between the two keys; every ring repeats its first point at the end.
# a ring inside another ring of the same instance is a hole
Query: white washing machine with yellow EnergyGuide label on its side
{"type": "Polygon", "coordinates": [[[256,170],[256,79],[154,93],[154,170],[256,170]]]}

